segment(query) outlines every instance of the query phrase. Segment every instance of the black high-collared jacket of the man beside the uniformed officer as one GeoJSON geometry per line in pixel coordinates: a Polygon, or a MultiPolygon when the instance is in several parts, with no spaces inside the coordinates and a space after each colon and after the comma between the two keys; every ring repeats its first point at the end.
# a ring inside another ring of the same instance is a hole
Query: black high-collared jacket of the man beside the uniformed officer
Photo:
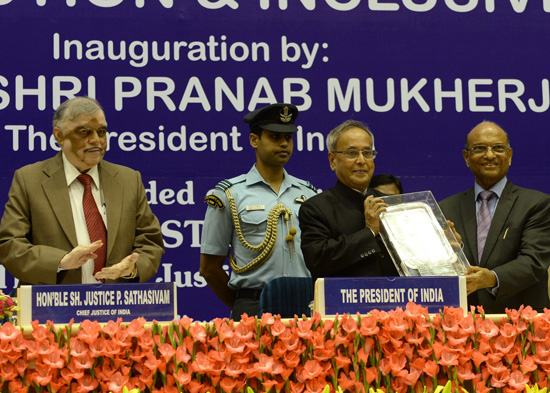
{"type": "MultiPolygon", "coordinates": [[[[368,190],[375,197],[384,194],[368,190]]],[[[300,208],[302,253],[313,276],[397,276],[382,240],[365,227],[365,195],[340,181],[300,208]]]]}

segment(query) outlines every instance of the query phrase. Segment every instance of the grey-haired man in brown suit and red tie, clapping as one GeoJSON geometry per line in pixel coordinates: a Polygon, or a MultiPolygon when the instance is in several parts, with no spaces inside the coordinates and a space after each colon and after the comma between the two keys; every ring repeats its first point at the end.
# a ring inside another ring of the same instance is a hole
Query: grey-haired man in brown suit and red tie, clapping
{"type": "Polygon", "coordinates": [[[0,261],[22,284],[147,281],[164,254],[139,172],[103,161],[107,122],[88,97],[53,120],[55,157],[15,172],[0,261]]]}

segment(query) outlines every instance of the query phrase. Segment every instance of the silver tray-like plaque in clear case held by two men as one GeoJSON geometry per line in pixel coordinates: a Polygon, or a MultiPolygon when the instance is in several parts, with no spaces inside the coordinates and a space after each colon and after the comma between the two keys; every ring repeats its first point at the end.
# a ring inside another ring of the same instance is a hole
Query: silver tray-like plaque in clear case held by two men
{"type": "Polygon", "coordinates": [[[431,191],[382,197],[380,237],[401,276],[463,276],[470,266],[431,191]]]}

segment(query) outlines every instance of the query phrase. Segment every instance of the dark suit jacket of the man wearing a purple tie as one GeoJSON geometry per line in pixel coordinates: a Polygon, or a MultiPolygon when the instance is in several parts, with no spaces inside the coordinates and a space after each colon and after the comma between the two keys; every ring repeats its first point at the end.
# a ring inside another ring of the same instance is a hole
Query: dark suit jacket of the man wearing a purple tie
{"type": "Polygon", "coordinates": [[[445,217],[462,236],[464,254],[471,265],[494,271],[499,280],[496,297],[481,289],[468,303],[482,305],[486,313],[504,313],[522,304],[537,311],[550,308],[550,196],[517,187],[508,181],[497,204],[481,261],[477,256],[477,221],[474,189],[460,192],[439,204],[445,217]]]}

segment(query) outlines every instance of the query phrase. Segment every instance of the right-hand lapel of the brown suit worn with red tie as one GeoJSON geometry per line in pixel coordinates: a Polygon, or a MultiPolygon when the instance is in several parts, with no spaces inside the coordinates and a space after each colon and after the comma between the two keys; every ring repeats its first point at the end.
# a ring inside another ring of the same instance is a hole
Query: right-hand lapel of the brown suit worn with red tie
{"type": "Polygon", "coordinates": [[[109,255],[111,255],[115,244],[122,216],[122,201],[124,200],[124,187],[116,179],[117,174],[118,172],[112,164],[105,161],[99,164],[99,177],[107,210],[107,260],[109,260],[109,255]]]}

